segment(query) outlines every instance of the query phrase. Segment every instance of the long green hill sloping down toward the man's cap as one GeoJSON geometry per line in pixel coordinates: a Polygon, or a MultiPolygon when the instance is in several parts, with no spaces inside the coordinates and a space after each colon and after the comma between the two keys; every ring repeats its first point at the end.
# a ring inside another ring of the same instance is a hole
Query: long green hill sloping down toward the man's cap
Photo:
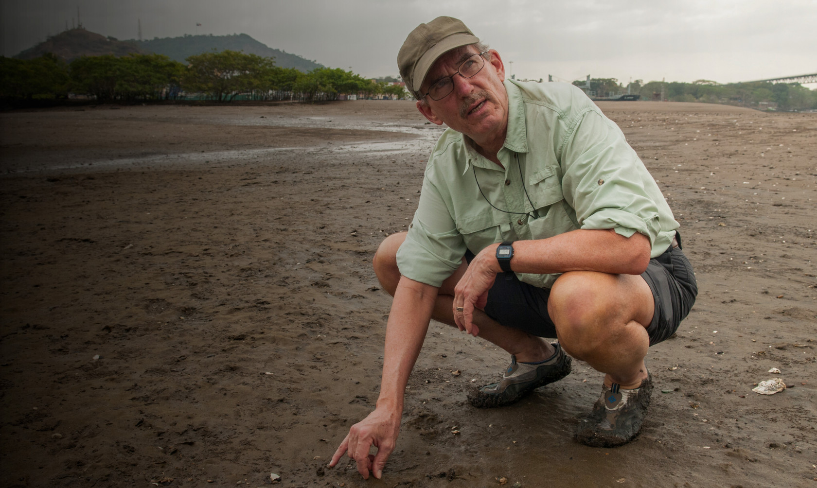
{"type": "Polygon", "coordinates": [[[153,38],[150,41],[129,41],[141,47],[143,51],[167,55],[170,59],[184,63],[190,55],[209,51],[244,51],[264,57],[274,57],[275,65],[281,68],[295,68],[306,73],[315,68],[322,68],[323,64],[267,47],[247,34],[233,34],[231,36],[185,35],[181,38],[153,38]]]}

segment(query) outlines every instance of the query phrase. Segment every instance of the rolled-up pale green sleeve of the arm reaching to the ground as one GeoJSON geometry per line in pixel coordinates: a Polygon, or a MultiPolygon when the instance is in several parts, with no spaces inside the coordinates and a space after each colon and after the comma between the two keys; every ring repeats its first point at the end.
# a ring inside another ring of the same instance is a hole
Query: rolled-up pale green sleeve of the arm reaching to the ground
{"type": "Polygon", "coordinates": [[[414,219],[397,251],[400,274],[439,287],[460,266],[465,251],[449,205],[426,175],[414,219]]]}

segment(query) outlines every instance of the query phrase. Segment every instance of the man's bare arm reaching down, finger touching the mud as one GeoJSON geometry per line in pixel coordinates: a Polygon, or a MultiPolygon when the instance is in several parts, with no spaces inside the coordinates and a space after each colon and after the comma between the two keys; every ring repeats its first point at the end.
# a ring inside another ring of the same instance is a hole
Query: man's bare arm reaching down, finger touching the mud
{"type": "Polygon", "coordinates": [[[368,480],[370,469],[374,477],[382,477],[383,466],[395,449],[397,435],[400,433],[408,375],[411,374],[422,342],[426,339],[437,291],[435,286],[400,277],[386,325],[380,396],[374,411],[349,429],[341,446],[332,456],[330,468],[346,452],[351,459],[355,459],[358,472],[364,479],[368,480]],[[370,446],[377,447],[377,455],[368,454],[370,446]]]}

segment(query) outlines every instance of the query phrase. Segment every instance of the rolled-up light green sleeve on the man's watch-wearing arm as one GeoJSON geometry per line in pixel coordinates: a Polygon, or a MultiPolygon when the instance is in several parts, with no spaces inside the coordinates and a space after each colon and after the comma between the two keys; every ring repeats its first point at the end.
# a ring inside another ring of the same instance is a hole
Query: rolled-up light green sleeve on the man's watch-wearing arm
{"type": "MultiPolygon", "coordinates": [[[[650,245],[661,232],[656,198],[663,196],[636,152],[614,122],[595,110],[574,121],[560,154],[565,200],[581,228],[612,228],[650,245]]],[[[673,220],[673,224],[675,224],[673,220]]]]}

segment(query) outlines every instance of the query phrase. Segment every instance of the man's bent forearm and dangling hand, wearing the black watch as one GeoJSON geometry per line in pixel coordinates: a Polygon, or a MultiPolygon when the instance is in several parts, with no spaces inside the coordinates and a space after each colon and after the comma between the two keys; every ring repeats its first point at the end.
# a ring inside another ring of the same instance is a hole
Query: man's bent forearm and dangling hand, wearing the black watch
{"type": "MultiPolygon", "coordinates": [[[[468,265],[454,288],[454,312],[458,326],[476,336],[474,308],[484,308],[488,291],[502,268],[496,258],[498,244],[485,247],[468,265]]],[[[612,229],[578,229],[536,241],[514,242],[511,269],[516,273],[566,273],[598,271],[610,274],[641,274],[650,263],[650,239],[634,233],[623,237],[612,229]]]]}

